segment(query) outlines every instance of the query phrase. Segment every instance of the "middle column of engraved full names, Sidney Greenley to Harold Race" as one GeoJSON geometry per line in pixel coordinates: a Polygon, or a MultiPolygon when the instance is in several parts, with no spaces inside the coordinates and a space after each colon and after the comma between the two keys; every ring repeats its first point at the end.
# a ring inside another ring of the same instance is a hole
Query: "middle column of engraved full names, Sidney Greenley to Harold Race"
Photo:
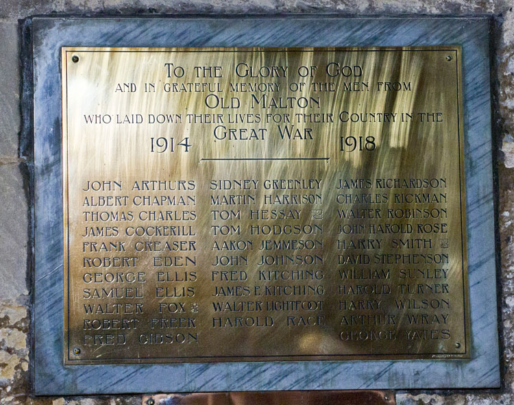
{"type": "Polygon", "coordinates": [[[321,180],[212,180],[210,189],[212,328],[323,325],[321,180]]]}

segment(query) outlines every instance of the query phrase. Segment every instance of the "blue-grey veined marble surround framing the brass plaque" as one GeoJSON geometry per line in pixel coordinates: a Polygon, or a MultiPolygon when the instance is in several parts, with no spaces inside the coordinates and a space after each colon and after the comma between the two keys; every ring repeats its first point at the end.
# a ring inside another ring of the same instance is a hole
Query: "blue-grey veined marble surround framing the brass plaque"
{"type": "MultiPolygon", "coordinates": [[[[298,389],[449,389],[500,385],[489,19],[336,16],[35,17],[34,392],[38,395],[298,389]],[[463,49],[470,360],[63,365],[60,47],[424,46],[463,49]]],[[[27,105],[27,104],[25,104],[27,105]]]]}

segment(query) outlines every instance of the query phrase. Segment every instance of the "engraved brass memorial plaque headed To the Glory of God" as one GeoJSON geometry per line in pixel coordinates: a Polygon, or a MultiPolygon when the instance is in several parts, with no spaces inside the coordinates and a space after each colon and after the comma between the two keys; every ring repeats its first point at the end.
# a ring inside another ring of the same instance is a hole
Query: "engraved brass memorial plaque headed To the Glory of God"
{"type": "Polygon", "coordinates": [[[64,48],[64,362],[469,358],[458,47],[64,48]]]}

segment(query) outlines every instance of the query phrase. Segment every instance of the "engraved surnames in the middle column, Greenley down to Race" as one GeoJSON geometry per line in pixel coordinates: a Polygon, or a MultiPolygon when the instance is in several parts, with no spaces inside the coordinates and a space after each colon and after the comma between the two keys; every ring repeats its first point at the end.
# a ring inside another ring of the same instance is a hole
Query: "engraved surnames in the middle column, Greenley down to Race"
{"type": "Polygon", "coordinates": [[[323,180],[265,178],[260,208],[249,210],[258,241],[256,294],[262,310],[292,336],[326,324],[323,313],[323,180]]]}

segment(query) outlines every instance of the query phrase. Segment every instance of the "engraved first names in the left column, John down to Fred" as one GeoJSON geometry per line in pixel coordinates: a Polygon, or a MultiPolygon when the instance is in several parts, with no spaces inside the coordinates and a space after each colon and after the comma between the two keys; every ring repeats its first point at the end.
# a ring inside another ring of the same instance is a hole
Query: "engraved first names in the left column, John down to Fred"
{"type": "Polygon", "coordinates": [[[134,220],[121,180],[87,181],[82,188],[80,233],[84,347],[126,345],[143,315],[147,272],[123,237],[134,220]]]}

